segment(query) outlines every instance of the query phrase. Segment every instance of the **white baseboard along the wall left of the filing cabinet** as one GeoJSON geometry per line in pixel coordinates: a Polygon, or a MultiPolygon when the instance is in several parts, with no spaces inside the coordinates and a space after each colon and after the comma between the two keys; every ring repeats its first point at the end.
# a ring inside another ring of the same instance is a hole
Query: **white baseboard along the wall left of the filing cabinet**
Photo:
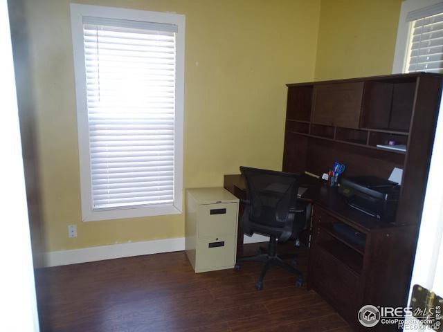
{"type": "Polygon", "coordinates": [[[122,257],[159,254],[185,250],[185,238],[161,239],[133,243],[119,243],[111,246],[98,246],[73,250],[62,250],[44,253],[44,266],[60,266],[102,261],[122,257]]]}

